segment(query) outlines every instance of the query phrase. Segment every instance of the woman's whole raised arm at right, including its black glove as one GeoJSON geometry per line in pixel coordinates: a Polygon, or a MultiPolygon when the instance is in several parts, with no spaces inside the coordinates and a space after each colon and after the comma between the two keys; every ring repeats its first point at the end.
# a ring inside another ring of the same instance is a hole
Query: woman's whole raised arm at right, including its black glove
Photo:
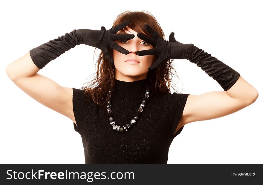
{"type": "Polygon", "coordinates": [[[194,44],[178,42],[173,32],[169,36],[169,41],[165,41],[149,25],[146,24],[145,28],[152,37],[142,33],[138,33],[137,36],[155,48],[137,51],[136,54],[159,56],[148,70],[154,69],[166,59],[189,59],[224,89],[224,91],[206,92],[201,95],[189,95],[174,134],[187,123],[229,115],[247,107],[258,98],[259,93],[251,84],[245,81],[237,71],[211,54],[194,44]]]}

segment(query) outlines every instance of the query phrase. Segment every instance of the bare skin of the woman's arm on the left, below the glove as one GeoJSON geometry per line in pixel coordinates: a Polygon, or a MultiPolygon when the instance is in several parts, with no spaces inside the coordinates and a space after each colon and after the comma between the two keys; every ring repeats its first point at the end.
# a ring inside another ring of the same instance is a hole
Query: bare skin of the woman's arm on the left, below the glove
{"type": "Polygon", "coordinates": [[[46,107],[67,116],[76,124],[72,107],[72,88],[62,87],[37,72],[29,52],[6,67],[8,77],[21,90],[46,107]]]}

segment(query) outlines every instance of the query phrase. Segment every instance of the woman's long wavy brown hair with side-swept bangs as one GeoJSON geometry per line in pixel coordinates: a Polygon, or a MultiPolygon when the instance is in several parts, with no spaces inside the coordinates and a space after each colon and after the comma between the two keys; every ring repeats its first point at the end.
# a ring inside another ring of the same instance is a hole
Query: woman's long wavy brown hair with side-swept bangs
{"type": "MultiPolygon", "coordinates": [[[[165,40],[165,35],[162,28],[160,27],[160,24],[155,19],[155,17],[146,10],[127,10],[117,16],[117,18],[113,22],[112,27],[121,24],[128,19],[130,20],[128,27],[136,31],[137,33],[143,33],[148,37],[151,37],[144,27],[145,24],[148,24],[165,40]]],[[[125,27],[122,30],[127,30],[127,28],[125,27]]],[[[97,48],[95,48],[95,50],[96,49],[97,48]]],[[[113,49],[109,47],[108,50],[110,51],[111,57],[113,58],[113,49]]],[[[156,55],[155,58],[157,59],[158,55],[156,55]]],[[[173,63],[172,61],[173,60],[170,59],[163,61],[160,65],[158,65],[158,67],[150,70],[147,74],[147,81],[149,82],[150,86],[149,88],[155,90],[161,95],[168,94],[170,92],[170,75],[172,74],[173,77],[174,73],[172,72],[175,71],[171,65],[173,63]]],[[[96,76],[94,76],[94,79],[91,81],[92,83],[88,87],[84,87],[83,85],[82,90],[85,90],[85,99],[89,104],[91,98],[94,103],[102,106],[105,110],[107,110],[107,101],[109,98],[108,92],[113,91],[114,89],[115,66],[107,60],[103,52],[100,52],[96,63],[98,63],[97,72],[94,73],[96,74],[96,76]]]]}

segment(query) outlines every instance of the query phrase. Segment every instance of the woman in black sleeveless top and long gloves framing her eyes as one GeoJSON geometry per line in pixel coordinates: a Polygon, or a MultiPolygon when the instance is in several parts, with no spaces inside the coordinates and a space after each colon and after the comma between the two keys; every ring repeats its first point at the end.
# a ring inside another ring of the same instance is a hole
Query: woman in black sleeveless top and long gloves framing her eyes
{"type": "Polygon", "coordinates": [[[166,41],[146,11],[121,13],[109,30],[73,30],[33,48],[6,71],[28,95],[74,122],[85,164],[167,164],[185,124],[229,115],[258,97],[238,72],[204,50],[176,41],[173,32],[166,41]],[[61,87],[37,73],[79,44],[102,50],[90,87],[61,87]],[[224,91],[171,94],[173,59],[189,59],[224,91]]]}

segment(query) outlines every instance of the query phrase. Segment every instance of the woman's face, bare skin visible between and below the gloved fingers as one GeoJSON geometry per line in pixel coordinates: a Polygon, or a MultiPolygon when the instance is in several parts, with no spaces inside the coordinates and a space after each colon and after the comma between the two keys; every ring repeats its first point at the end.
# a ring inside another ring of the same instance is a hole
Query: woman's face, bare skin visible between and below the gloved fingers
{"type": "MultiPolygon", "coordinates": [[[[146,79],[148,68],[154,63],[155,55],[136,55],[136,51],[149,50],[154,48],[154,46],[148,44],[147,42],[141,40],[137,37],[137,32],[127,27],[127,34],[134,34],[134,38],[131,40],[115,41],[121,47],[128,50],[130,53],[128,55],[122,54],[113,49],[113,60],[115,65],[115,79],[120,81],[137,81],[141,79],[146,79]],[[136,59],[139,61],[137,64],[129,64],[128,59],[136,59]]],[[[123,33],[122,30],[117,33],[123,33]]],[[[125,34],[123,33],[123,34],[125,34]]]]}

